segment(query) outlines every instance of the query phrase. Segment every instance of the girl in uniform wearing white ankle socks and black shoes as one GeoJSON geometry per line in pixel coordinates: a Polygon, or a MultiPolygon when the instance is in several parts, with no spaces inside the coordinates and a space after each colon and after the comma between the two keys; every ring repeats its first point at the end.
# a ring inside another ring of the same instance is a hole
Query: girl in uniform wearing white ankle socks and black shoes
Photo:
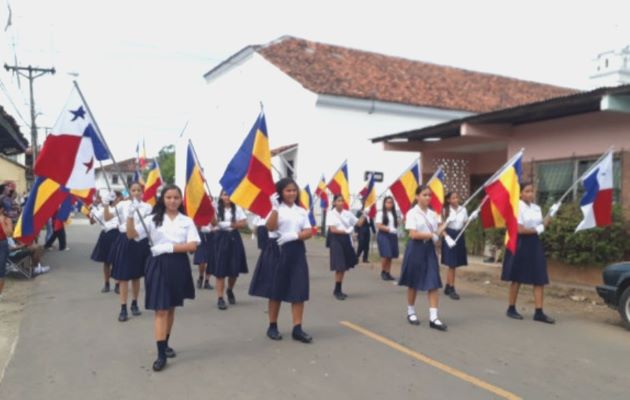
{"type": "Polygon", "coordinates": [[[446,331],[446,324],[438,318],[439,289],[442,287],[440,266],[435,244],[444,231],[440,216],[429,208],[431,189],[421,185],[416,189],[416,205],[407,212],[405,228],[409,231],[409,241],[403,256],[402,271],[398,284],[407,286],[407,321],[420,325],[416,314],[418,291],[428,292],[429,326],[446,331]]]}

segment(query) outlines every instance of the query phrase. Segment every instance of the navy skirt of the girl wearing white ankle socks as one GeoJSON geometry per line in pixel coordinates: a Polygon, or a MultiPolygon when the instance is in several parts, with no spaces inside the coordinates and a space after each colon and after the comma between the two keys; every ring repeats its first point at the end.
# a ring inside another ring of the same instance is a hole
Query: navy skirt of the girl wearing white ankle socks
{"type": "Polygon", "coordinates": [[[410,239],[407,242],[398,284],[416,290],[442,287],[440,266],[432,241],[410,239]]]}

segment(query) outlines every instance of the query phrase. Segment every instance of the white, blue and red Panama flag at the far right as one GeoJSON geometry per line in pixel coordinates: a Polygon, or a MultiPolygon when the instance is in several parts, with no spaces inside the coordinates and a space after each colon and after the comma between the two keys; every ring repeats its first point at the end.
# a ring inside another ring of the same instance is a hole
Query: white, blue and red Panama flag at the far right
{"type": "Polygon", "coordinates": [[[584,219],[578,225],[577,231],[612,224],[613,199],[613,159],[612,152],[582,177],[585,193],[580,201],[580,208],[584,219]]]}

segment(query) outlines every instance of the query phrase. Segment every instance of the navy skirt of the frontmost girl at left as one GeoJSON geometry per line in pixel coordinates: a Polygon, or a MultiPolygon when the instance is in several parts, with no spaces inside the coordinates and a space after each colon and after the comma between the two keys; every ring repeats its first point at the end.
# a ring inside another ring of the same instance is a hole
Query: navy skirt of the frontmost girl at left
{"type": "Polygon", "coordinates": [[[195,284],[186,253],[150,256],[147,261],[144,306],[147,310],[168,310],[195,298],[195,284]]]}

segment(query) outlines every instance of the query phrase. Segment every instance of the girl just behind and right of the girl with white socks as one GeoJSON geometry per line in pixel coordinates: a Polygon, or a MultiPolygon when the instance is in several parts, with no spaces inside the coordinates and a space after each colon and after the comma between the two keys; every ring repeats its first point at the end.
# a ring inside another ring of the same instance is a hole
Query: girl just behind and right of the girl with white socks
{"type": "MultiPolygon", "coordinates": [[[[449,192],[444,197],[448,207],[444,208],[444,217],[446,223],[445,234],[451,239],[455,239],[468,220],[475,220],[479,216],[479,212],[475,211],[468,216],[466,208],[460,206],[459,195],[455,192],[449,192]]],[[[442,264],[448,267],[446,276],[446,286],[444,294],[453,300],[459,300],[459,294],[455,291],[455,271],[459,267],[468,265],[468,253],[466,250],[466,238],[464,235],[457,240],[453,248],[449,247],[446,240],[442,241],[442,264]]]]}

